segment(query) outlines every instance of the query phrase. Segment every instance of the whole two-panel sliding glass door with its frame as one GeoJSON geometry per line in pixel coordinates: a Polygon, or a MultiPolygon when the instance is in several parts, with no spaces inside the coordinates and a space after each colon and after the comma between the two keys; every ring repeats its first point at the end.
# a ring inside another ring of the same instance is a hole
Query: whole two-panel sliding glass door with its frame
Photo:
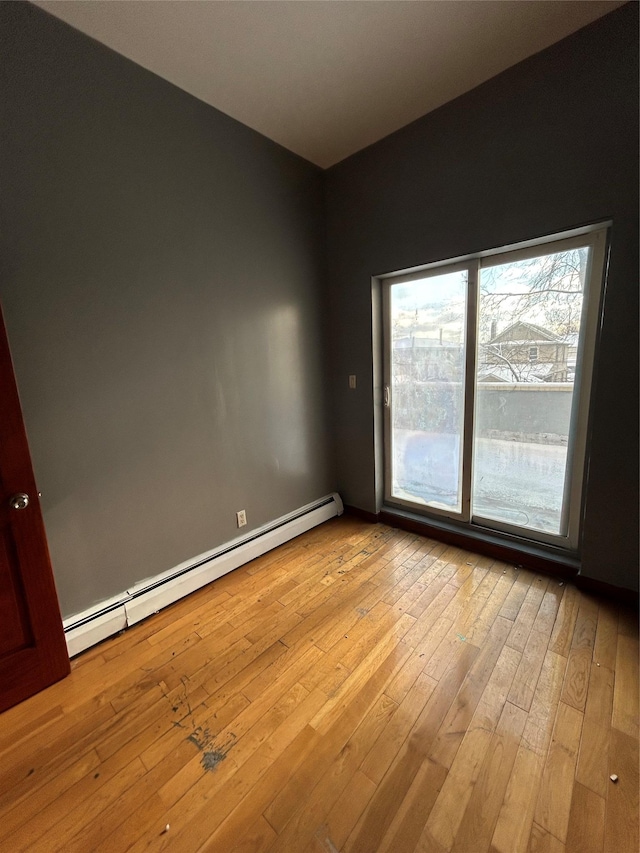
{"type": "Polygon", "coordinates": [[[387,503],[575,548],[605,245],[384,279],[387,503]]]}

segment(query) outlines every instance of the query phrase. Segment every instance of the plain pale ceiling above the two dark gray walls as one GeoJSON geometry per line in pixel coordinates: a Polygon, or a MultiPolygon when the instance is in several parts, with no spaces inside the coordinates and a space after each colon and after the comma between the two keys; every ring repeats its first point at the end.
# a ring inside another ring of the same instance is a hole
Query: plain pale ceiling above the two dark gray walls
{"type": "Polygon", "coordinates": [[[601,0],[36,0],[328,167],[612,11],[601,0]]]}

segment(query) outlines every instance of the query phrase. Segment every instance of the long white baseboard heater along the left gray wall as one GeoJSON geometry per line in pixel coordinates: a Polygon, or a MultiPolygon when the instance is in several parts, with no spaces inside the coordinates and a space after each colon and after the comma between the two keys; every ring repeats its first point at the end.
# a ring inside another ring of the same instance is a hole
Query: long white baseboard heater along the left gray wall
{"type": "Polygon", "coordinates": [[[63,622],[69,657],[342,512],[342,500],[334,492],[70,616],[63,622]]]}

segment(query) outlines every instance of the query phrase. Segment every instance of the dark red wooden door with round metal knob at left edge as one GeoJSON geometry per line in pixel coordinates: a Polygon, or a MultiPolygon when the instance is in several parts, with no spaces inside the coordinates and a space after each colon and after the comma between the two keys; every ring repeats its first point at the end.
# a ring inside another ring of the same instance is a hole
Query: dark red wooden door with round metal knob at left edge
{"type": "Polygon", "coordinates": [[[0,711],[68,672],[60,608],[0,312],[0,711]]]}

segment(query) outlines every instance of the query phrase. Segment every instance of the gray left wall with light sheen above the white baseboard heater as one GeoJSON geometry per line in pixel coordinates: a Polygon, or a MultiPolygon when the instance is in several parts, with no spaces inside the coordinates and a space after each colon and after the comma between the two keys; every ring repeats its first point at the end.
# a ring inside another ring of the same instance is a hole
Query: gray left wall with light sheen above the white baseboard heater
{"type": "Polygon", "coordinates": [[[0,3],[0,300],[64,615],[334,488],[322,173],[0,3]]]}

